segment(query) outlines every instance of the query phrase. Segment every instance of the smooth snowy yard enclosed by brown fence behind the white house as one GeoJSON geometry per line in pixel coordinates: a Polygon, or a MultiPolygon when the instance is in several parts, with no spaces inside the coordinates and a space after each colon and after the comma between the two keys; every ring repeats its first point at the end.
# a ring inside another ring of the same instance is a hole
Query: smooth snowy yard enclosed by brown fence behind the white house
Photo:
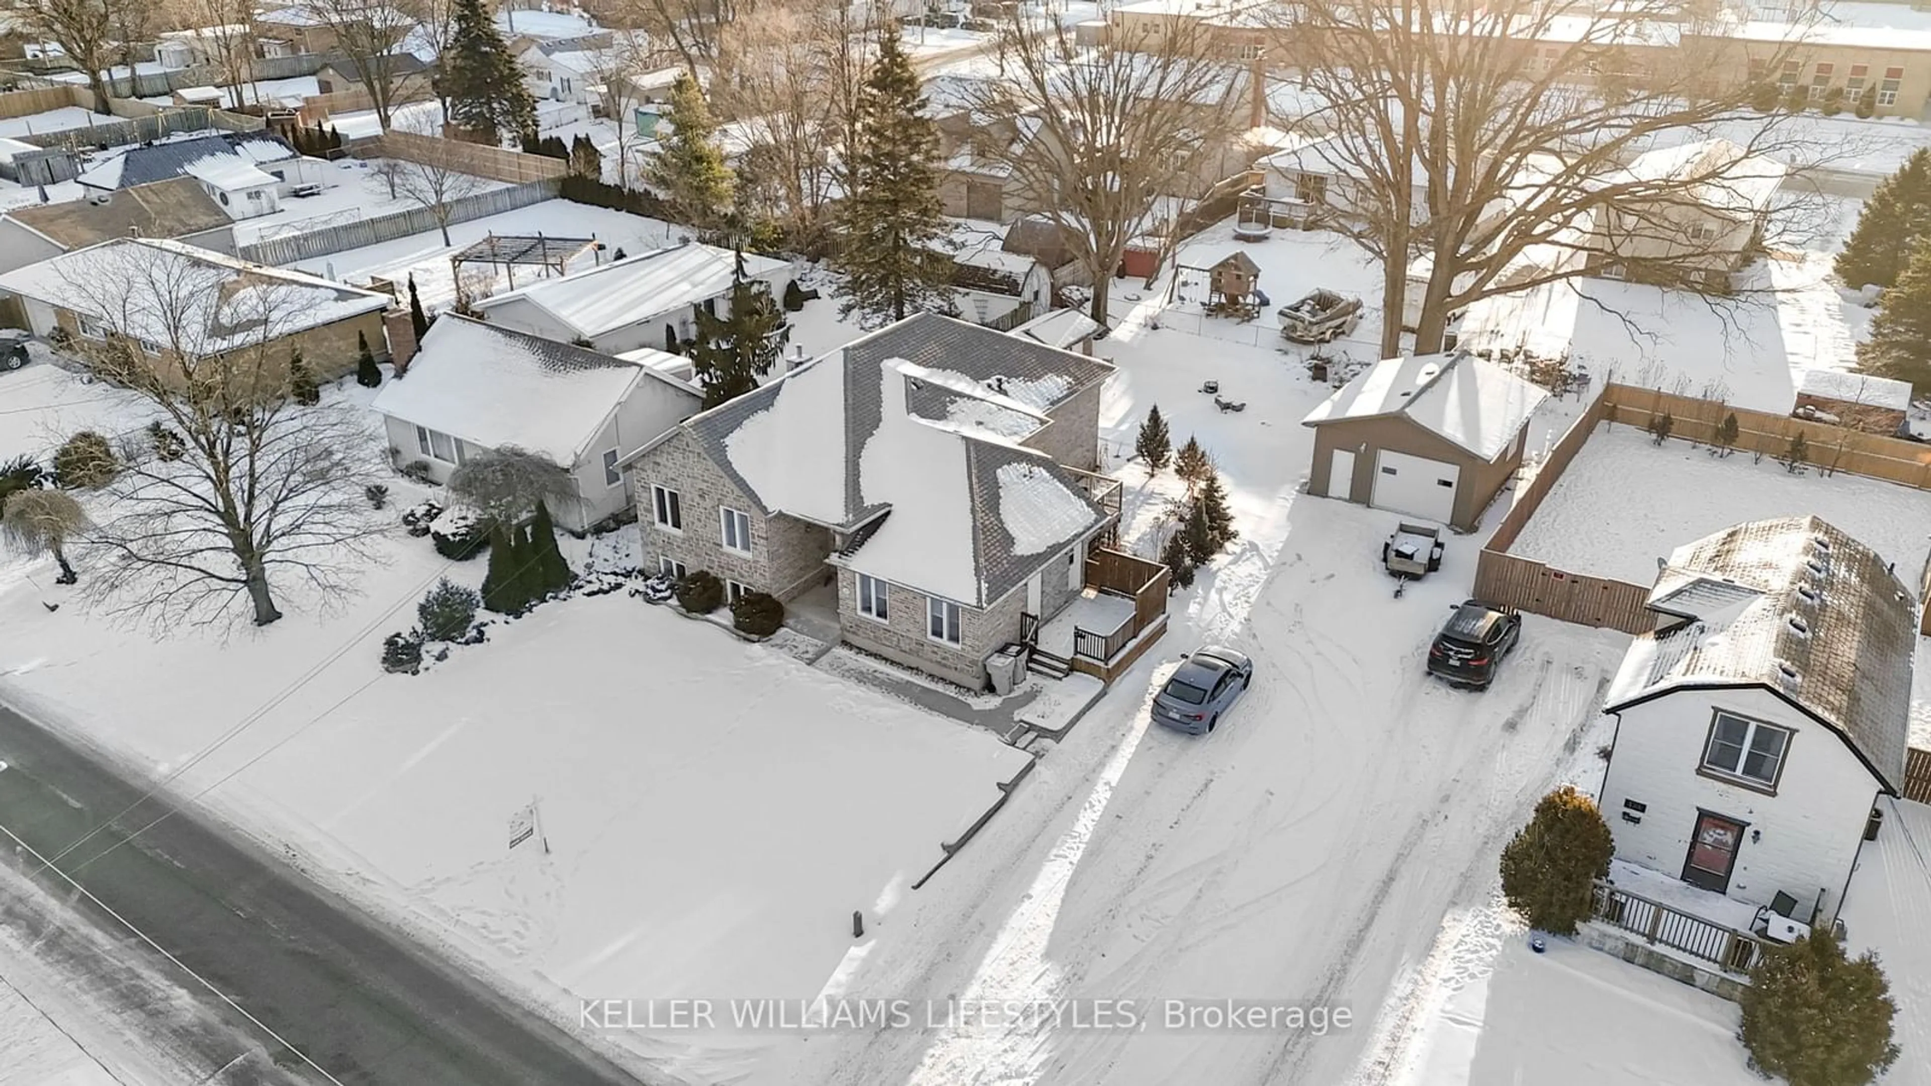
{"type": "MultiPolygon", "coordinates": [[[[1777,450],[1782,452],[1782,450],[1777,450]]],[[[1829,450],[1811,450],[1825,460],[1829,450]]],[[[1817,514],[1896,562],[1910,582],[1931,541],[1931,493],[1860,475],[1784,472],[1749,452],[1726,458],[1684,441],[1655,446],[1630,425],[1601,425],[1543,499],[1512,555],[1558,570],[1657,580],[1657,558],[1746,520],[1817,514]]]]}

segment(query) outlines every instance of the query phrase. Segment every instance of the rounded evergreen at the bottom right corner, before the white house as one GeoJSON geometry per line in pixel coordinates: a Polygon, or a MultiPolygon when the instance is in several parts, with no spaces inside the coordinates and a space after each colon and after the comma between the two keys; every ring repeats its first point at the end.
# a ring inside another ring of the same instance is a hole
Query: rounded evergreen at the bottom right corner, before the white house
{"type": "Polygon", "coordinates": [[[1833,931],[1767,947],[1738,1001],[1751,1063],[1790,1086],[1861,1086],[1898,1059],[1885,970],[1869,951],[1846,958],[1833,931]]]}

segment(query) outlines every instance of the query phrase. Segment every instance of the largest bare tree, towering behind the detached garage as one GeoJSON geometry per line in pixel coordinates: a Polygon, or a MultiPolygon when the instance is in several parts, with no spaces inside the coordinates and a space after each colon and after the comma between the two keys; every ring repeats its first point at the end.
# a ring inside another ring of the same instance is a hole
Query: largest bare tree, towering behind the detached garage
{"type": "Polygon", "coordinates": [[[1755,218],[1778,162],[1829,155],[1749,108],[1802,56],[1805,23],[1746,64],[1742,41],[1697,33],[1721,27],[1680,8],[1305,0],[1282,15],[1276,46],[1315,100],[1288,118],[1319,139],[1303,162],[1346,187],[1315,211],[1383,263],[1385,356],[1400,354],[1404,307],[1419,311],[1415,350],[1435,352],[1454,313],[1589,274],[1591,253],[1676,280],[1738,242],[1701,209],[1755,218]],[[1730,143],[1641,158],[1713,135],[1730,143]]]}

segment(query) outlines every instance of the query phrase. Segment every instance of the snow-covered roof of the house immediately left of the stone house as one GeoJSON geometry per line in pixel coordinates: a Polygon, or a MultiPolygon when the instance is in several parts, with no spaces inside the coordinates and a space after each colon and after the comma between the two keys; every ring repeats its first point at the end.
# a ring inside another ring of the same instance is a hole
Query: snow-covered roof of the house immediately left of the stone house
{"type": "Polygon", "coordinates": [[[695,388],[647,365],[444,313],[409,359],[409,375],[384,385],[373,406],[471,444],[516,444],[570,468],[643,381],[676,388],[693,412],[701,402],[695,388]]]}

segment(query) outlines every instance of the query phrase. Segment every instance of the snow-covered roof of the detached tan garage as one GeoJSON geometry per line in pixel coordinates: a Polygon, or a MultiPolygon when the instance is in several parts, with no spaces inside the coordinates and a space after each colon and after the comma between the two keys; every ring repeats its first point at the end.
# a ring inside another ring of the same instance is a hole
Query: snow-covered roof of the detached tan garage
{"type": "Polygon", "coordinates": [[[1450,444],[1495,460],[1549,398],[1543,388],[1473,356],[1390,357],[1363,369],[1301,425],[1404,415],[1450,444]]]}

